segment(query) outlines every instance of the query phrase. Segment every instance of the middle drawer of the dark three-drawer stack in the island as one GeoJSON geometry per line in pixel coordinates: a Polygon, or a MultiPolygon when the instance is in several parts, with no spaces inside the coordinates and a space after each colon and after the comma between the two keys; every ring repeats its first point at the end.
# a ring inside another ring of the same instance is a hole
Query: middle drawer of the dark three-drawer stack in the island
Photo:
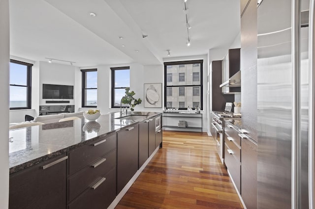
{"type": "Polygon", "coordinates": [[[114,167],[116,167],[116,150],[104,157],[98,158],[89,167],[82,169],[68,178],[68,202],[81,194],[97,179],[100,179],[102,175],[114,167]]]}

